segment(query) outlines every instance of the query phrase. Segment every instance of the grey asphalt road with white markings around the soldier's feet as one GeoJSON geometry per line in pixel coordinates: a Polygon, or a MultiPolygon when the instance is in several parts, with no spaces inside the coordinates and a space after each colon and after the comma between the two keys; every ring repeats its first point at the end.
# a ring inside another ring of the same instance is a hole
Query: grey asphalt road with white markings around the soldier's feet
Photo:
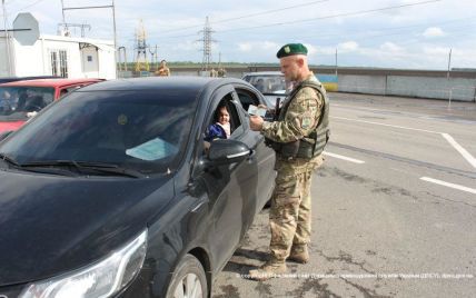
{"type": "Polygon", "coordinates": [[[267,258],[265,209],[212,297],[475,297],[476,103],[330,98],[310,261],[267,281],[246,278],[267,258]]]}

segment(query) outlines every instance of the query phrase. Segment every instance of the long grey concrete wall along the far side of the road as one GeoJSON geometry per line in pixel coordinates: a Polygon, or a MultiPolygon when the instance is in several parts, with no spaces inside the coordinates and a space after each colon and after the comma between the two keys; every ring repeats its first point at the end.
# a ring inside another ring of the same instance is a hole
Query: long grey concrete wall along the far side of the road
{"type": "MultiPolygon", "coordinates": [[[[279,67],[227,68],[227,77],[246,72],[278,71],[279,67]]],[[[430,98],[476,102],[476,70],[447,71],[313,67],[328,91],[430,98]],[[335,73],[338,71],[337,80],[335,73]],[[330,85],[329,85],[330,83],[330,85]]],[[[198,76],[198,68],[171,68],[171,76],[198,76]]]]}

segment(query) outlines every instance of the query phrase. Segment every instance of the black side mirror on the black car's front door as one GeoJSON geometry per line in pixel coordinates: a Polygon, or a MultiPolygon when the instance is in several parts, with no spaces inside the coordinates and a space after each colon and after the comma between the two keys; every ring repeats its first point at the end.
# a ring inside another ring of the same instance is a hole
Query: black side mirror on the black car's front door
{"type": "Polygon", "coordinates": [[[248,146],[237,140],[214,140],[208,150],[208,160],[215,166],[240,162],[251,155],[248,146]]]}

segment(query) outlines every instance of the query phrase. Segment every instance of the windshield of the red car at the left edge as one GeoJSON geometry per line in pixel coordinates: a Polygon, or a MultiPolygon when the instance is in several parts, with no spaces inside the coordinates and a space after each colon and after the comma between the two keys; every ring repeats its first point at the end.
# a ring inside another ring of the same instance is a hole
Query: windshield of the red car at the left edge
{"type": "Polygon", "coordinates": [[[40,111],[53,98],[51,87],[0,87],[0,121],[24,120],[27,112],[40,111]]]}

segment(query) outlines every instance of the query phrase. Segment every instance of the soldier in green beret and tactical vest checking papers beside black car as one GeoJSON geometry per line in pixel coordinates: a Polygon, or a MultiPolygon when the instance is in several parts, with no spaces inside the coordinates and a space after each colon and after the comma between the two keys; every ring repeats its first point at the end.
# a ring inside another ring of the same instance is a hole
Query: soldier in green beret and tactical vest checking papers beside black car
{"type": "Polygon", "coordinates": [[[321,152],[329,137],[329,102],[308,68],[306,47],[286,44],[277,57],[294,89],[277,111],[277,121],[267,122],[259,116],[249,119],[251,129],[260,131],[275,149],[278,173],[269,211],[270,259],[249,271],[257,280],[286,272],[286,259],[300,264],[309,260],[311,175],[324,162],[321,152]]]}

